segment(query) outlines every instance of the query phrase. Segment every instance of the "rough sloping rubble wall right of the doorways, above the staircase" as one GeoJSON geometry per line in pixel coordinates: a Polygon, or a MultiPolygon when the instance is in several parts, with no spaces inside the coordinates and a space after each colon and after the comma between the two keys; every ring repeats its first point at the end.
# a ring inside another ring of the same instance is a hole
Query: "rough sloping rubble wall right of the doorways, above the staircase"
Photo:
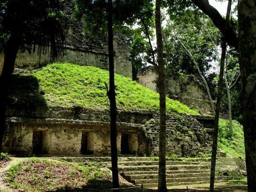
{"type": "MultiPolygon", "coordinates": [[[[149,154],[158,155],[159,115],[142,125],[148,139],[149,154]]],[[[195,118],[185,114],[166,116],[166,154],[178,157],[210,155],[212,137],[195,118]]]]}

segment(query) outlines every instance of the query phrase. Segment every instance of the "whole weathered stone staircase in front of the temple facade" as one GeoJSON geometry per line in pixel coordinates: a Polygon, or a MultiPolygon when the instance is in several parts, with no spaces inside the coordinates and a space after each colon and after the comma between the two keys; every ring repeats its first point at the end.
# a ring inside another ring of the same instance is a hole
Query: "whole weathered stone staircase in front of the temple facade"
{"type": "MultiPolygon", "coordinates": [[[[54,157],[50,157],[54,158],[54,157]]],[[[111,169],[111,157],[55,157],[54,159],[83,165],[107,166],[111,169]]],[[[219,158],[221,159],[221,158],[219,158]]],[[[222,158],[224,159],[224,158],[222,158]]],[[[220,166],[222,161],[217,161],[220,166]]],[[[143,184],[146,188],[157,187],[158,160],[152,157],[119,157],[119,174],[135,185],[143,184]]],[[[166,159],[167,186],[193,185],[209,183],[209,158],[166,159]]],[[[215,174],[215,182],[224,182],[224,176],[215,174]]]]}

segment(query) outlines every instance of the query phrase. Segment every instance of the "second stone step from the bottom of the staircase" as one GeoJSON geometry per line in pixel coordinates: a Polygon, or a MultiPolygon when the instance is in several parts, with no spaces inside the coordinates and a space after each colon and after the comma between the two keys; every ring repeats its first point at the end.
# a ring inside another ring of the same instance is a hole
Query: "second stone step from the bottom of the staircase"
{"type": "MultiPolygon", "coordinates": [[[[216,180],[224,180],[224,177],[215,177],[216,180]]],[[[181,178],[166,178],[166,183],[188,183],[188,182],[198,182],[198,181],[209,181],[210,177],[181,177],[181,178]]],[[[136,185],[145,183],[157,183],[158,179],[135,179],[131,180],[131,183],[136,185]]]]}

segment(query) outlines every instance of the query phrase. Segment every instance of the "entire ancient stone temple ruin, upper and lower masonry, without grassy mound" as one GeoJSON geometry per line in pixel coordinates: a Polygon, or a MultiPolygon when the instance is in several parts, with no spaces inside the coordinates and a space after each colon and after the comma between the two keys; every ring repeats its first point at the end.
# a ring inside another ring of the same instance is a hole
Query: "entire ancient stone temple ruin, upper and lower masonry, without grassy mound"
{"type": "MultiPolygon", "coordinates": [[[[83,23],[71,18],[67,6],[64,29],[67,44],[58,61],[95,66],[108,70],[107,45],[89,40],[83,23]]],[[[131,77],[131,59],[125,39],[116,34],[114,40],[115,71],[131,77]]],[[[3,55],[0,55],[3,64],[3,55]]],[[[49,64],[47,55],[19,52],[16,68],[39,69],[49,64]]],[[[15,70],[19,76],[19,70],[15,70]]],[[[138,76],[139,83],[156,90],[152,82],[156,74],[148,67],[138,76]]],[[[187,77],[190,78],[190,77],[187,77]]],[[[10,154],[71,154],[107,155],[111,153],[110,117],[106,108],[89,109],[80,105],[64,107],[46,104],[40,90],[33,90],[29,98],[22,95],[23,85],[32,85],[30,76],[11,90],[3,151],[10,154]],[[19,92],[20,91],[20,92],[19,92]]],[[[168,96],[210,115],[210,107],[202,85],[196,79],[186,82],[170,76],[168,96]],[[172,86],[171,86],[172,85],[172,86]]],[[[33,82],[37,86],[37,80],[33,82]]],[[[135,82],[134,82],[135,83],[135,82]]],[[[96,98],[97,99],[97,98],[96,98]]],[[[143,102],[143,101],[141,101],[143,102]]],[[[210,151],[213,119],[211,116],[169,113],[167,116],[167,154],[195,157],[210,151]]],[[[117,117],[117,146],[119,154],[156,155],[158,153],[159,122],[157,111],[122,109],[117,117]]]]}

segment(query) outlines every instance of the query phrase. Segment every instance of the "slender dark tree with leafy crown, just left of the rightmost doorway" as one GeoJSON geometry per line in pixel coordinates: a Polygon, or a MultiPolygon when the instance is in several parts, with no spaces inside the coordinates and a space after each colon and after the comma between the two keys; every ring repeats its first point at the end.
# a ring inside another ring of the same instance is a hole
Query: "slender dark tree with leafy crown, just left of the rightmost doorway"
{"type": "Polygon", "coordinates": [[[113,188],[119,188],[118,158],[117,158],[117,131],[116,131],[116,92],[114,76],[113,28],[123,29],[123,24],[133,23],[136,13],[140,11],[146,1],[118,1],[118,0],[76,0],[75,15],[78,18],[85,16],[86,30],[104,41],[106,29],[108,31],[108,57],[109,57],[109,89],[106,84],[110,101],[110,129],[111,129],[111,165],[113,188]],[[137,4],[136,4],[136,3],[137,4]],[[134,6],[136,4],[136,6],[134,6]],[[113,10],[115,10],[113,12],[113,10]],[[129,10],[129,12],[127,11],[129,10]],[[105,18],[108,17],[108,20],[105,18]]]}

